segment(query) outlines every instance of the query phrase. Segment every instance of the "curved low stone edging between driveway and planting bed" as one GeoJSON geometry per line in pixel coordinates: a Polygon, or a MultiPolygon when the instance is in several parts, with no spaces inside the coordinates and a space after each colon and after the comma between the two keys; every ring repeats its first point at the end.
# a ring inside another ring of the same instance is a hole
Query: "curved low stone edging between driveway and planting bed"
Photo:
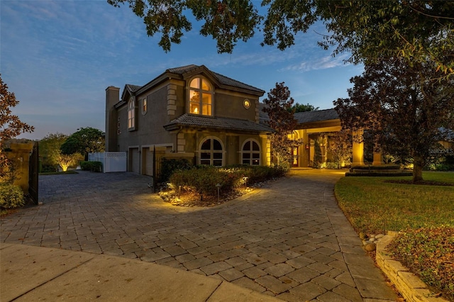
{"type": "Polygon", "coordinates": [[[396,286],[399,293],[406,298],[406,301],[414,302],[447,302],[444,298],[433,297],[433,293],[426,284],[415,274],[409,272],[399,261],[389,257],[385,250],[387,245],[392,242],[396,234],[389,232],[377,242],[377,253],[375,259],[377,264],[387,275],[392,284],[396,286]]]}

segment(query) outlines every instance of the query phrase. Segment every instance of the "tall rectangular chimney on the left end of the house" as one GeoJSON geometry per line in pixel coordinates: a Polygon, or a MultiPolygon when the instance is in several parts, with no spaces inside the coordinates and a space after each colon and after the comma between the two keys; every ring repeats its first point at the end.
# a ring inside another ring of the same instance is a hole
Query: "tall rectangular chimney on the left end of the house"
{"type": "Polygon", "coordinates": [[[120,89],[106,88],[106,152],[115,152],[117,146],[118,114],[114,105],[120,101],[120,89]]]}

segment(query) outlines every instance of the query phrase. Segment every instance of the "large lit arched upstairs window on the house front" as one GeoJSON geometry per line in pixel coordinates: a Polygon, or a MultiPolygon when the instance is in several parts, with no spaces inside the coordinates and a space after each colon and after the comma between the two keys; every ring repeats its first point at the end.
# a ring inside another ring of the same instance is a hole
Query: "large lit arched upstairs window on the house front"
{"type": "Polygon", "coordinates": [[[212,115],[213,89],[211,84],[201,77],[192,79],[189,84],[189,113],[212,115]]]}

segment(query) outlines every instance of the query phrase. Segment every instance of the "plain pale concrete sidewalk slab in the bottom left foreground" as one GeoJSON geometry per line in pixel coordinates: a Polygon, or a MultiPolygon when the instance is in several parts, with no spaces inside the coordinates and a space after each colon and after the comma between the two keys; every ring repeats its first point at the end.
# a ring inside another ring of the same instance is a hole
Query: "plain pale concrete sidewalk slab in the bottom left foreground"
{"type": "Polygon", "coordinates": [[[226,281],[122,257],[0,245],[0,301],[280,301],[226,281]]]}

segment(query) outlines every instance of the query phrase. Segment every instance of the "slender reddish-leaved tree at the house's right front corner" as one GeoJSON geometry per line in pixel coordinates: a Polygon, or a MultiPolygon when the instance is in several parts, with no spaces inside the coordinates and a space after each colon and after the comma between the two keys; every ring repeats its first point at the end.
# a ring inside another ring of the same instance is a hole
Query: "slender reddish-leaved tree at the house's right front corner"
{"type": "Polygon", "coordinates": [[[302,141],[292,138],[298,122],[293,116],[294,111],[289,111],[294,99],[290,96],[289,88],[284,84],[284,82],[276,83],[276,87],[268,92],[267,99],[263,100],[267,106],[264,106],[262,110],[270,118],[268,125],[275,130],[269,137],[271,150],[277,159],[277,164],[289,167],[293,160],[293,148],[301,145],[302,141]]]}

